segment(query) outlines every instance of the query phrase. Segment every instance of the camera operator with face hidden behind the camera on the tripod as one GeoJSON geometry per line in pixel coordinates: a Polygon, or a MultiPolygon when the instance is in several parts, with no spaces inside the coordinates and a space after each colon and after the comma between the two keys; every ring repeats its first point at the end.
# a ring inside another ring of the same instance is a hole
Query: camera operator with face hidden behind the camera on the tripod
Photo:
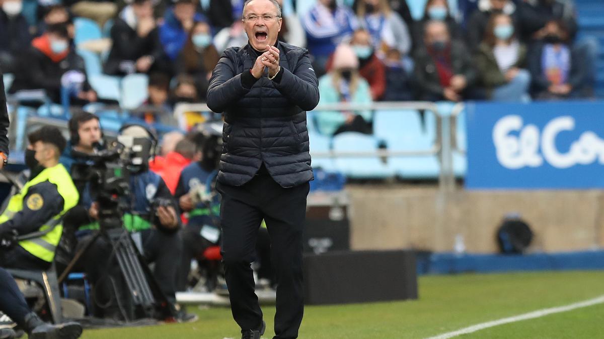
{"type": "MultiPolygon", "coordinates": [[[[140,125],[126,126],[120,130],[120,135],[145,138],[149,139],[151,144],[156,144],[155,136],[140,125]]],[[[132,232],[133,238],[140,233],[144,257],[148,262],[155,262],[153,276],[167,300],[176,306],[176,274],[182,255],[182,239],[179,232],[180,222],[176,202],[164,180],[149,171],[147,159],[144,159],[140,165],[129,167],[132,197],[121,197],[129,200],[126,203],[127,206],[130,206],[130,211],[126,211],[123,217],[123,226],[132,232]]],[[[80,230],[99,229],[96,221],[99,220],[101,206],[94,200],[95,197],[92,194],[83,197],[85,206],[89,208],[88,215],[95,222],[80,227],[80,230]]],[[[85,241],[81,241],[81,243],[83,244],[85,241]]],[[[95,295],[110,302],[114,297],[124,299],[124,289],[126,289],[117,262],[115,259],[109,262],[111,253],[111,244],[101,237],[97,238],[84,256],[86,273],[95,284],[95,295]],[[118,287],[117,290],[116,287],[118,287]]],[[[117,300],[117,305],[112,303],[98,315],[126,317],[119,300],[117,300]]],[[[195,315],[185,312],[178,312],[175,317],[179,322],[196,319],[195,315]]]]}

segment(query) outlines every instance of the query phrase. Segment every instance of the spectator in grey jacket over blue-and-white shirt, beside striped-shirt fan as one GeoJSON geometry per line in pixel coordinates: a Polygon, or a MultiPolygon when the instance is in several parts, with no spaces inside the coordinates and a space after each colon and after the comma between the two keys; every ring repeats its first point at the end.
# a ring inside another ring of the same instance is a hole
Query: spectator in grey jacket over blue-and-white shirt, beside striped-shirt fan
{"type": "Polygon", "coordinates": [[[363,26],[371,34],[378,52],[396,48],[406,55],[411,49],[411,36],[398,13],[391,10],[388,0],[361,0],[356,9],[363,26]]]}

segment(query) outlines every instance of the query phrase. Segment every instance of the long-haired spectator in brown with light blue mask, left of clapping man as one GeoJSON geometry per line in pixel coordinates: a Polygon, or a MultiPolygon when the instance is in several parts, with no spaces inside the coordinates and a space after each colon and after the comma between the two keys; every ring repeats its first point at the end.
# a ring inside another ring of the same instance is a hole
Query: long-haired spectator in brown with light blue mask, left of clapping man
{"type": "Polygon", "coordinates": [[[219,55],[212,43],[210,25],[196,22],[175,63],[176,74],[188,74],[195,80],[199,100],[205,102],[208,80],[218,63],[219,55]]]}

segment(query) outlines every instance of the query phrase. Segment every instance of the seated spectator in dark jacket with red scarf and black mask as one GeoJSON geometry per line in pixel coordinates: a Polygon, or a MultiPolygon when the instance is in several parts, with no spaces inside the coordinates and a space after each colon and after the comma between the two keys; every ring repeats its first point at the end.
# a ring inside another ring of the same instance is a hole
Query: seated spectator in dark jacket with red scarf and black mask
{"type": "Polygon", "coordinates": [[[463,43],[452,40],[447,25],[442,21],[426,24],[425,47],[414,57],[415,81],[419,100],[461,101],[475,98],[472,86],[476,72],[463,43]]]}

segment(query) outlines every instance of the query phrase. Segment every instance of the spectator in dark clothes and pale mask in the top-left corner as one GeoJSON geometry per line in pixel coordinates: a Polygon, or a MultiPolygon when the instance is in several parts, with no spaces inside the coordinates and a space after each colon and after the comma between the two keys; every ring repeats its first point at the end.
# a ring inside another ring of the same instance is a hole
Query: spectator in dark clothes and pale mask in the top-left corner
{"type": "Polygon", "coordinates": [[[31,44],[31,34],[21,14],[22,0],[0,0],[0,4],[0,65],[4,73],[14,73],[19,55],[31,44]]]}

